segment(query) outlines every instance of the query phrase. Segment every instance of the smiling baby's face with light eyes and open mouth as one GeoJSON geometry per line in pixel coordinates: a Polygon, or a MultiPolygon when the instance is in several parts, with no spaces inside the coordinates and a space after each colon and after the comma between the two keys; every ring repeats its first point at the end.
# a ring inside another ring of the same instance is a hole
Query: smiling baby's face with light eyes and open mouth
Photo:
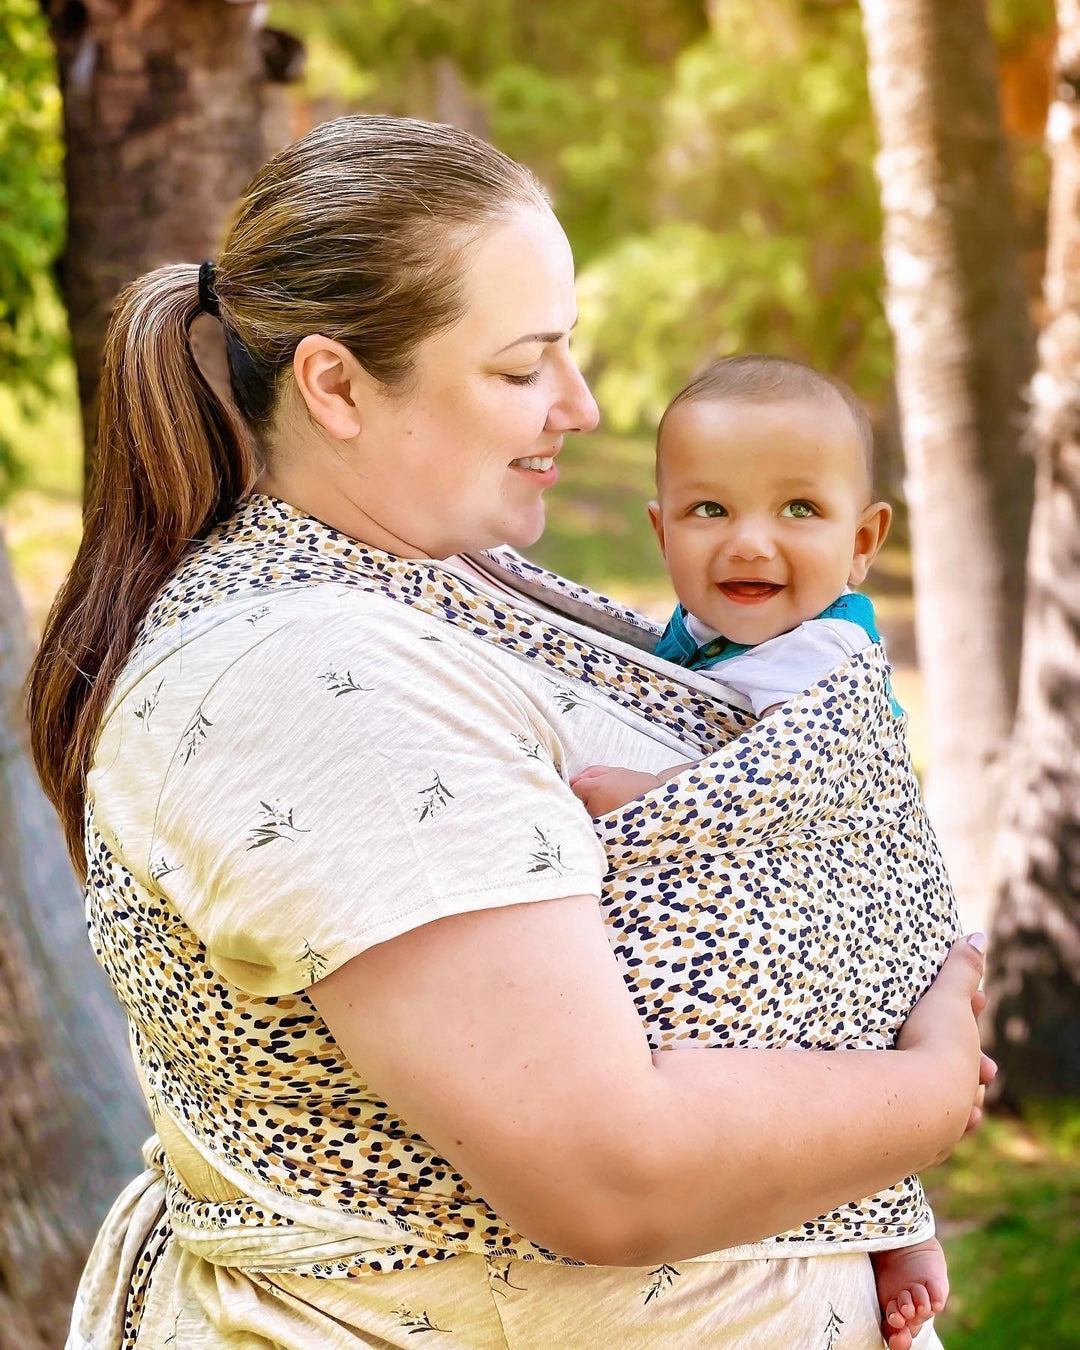
{"type": "Polygon", "coordinates": [[[888,529],[840,398],[683,404],[659,477],[649,514],[675,593],[734,643],[786,633],[860,585],[888,529]]]}

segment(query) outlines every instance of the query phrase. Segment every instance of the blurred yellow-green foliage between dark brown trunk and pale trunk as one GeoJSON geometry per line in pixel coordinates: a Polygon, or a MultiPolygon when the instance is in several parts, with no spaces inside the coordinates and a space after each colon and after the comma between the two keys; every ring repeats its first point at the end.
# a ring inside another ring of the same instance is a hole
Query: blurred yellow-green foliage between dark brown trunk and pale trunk
{"type": "MultiPolygon", "coordinates": [[[[813,0],[277,4],[347,53],[363,107],[439,113],[452,63],[548,185],[580,271],[579,354],[610,425],[648,428],[716,352],[890,374],[859,7],[813,0]]],[[[325,62],[320,58],[320,68],[325,62]]]]}

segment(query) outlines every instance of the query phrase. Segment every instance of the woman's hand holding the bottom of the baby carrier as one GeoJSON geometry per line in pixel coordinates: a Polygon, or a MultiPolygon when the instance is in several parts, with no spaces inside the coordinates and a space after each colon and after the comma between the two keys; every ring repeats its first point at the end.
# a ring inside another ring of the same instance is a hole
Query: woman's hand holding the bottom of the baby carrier
{"type": "Polygon", "coordinates": [[[911,1008],[896,1040],[898,1050],[925,1056],[929,1072],[940,1077],[953,1098],[948,1115],[956,1122],[956,1137],[937,1161],[944,1161],[959,1139],[979,1126],[986,1085],[998,1072],[990,1056],[981,1053],[976,1021],[987,1002],[979,988],[984,949],[981,933],[953,945],[937,979],[911,1008]]]}

